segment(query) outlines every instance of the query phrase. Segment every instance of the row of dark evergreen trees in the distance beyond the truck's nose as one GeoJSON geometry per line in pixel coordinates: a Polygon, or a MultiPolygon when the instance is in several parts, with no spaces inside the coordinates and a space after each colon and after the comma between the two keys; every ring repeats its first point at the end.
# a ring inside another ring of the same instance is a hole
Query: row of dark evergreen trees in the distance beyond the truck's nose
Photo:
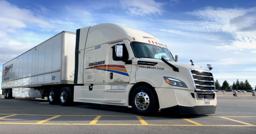
{"type": "MultiPolygon", "coordinates": [[[[245,82],[243,81],[238,81],[238,79],[236,80],[236,82],[233,82],[232,85],[229,85],[229,83],[225,80],[222,83],[222,86],[220,86],[220,83],[218,80],[215,81],[215,89],[216,90],[253,90],[253,87],[250,85],[250,83],[245,80],[245,82]]],[[[256,86],[255,86],[256,89],[256,86]]]]}

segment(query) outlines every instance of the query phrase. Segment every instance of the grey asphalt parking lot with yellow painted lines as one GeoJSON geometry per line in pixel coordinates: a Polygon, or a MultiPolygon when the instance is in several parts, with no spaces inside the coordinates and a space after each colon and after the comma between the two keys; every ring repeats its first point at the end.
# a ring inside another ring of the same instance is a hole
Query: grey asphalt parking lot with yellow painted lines
{"type": "Polygon", "coordinates": [[[256,96],[219,97],[215,114],[136,115],[91,106],[50,105],[46,99],[0,98],[1,133],[245,133],[256,132],[256,96]]]}

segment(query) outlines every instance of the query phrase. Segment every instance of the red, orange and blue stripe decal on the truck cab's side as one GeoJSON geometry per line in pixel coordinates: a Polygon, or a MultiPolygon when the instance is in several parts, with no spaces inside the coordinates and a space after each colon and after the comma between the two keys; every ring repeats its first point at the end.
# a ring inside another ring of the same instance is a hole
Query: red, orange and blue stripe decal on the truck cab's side
{"type": "Polygon", "coordinates": [[[108,71],[108,72],[129,76],[129,74],[127,73],[127,70],[125,69],[125,66],[123,65],[97,65],[87,69],[98,69],[98,70],[103,70],[103,71],[108,71]]]}

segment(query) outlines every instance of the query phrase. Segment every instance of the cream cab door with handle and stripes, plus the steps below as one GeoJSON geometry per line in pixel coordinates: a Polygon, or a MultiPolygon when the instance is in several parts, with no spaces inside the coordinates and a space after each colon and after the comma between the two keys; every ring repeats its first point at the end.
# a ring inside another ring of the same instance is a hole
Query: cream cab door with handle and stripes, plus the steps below
{"type": "MultiPolygon", "coordinates": [[[[105,70],[107,71],[108,83],[105,83],[105,90],[103,92],[103,107],[108,105],[127,106],[126,87],[130,81],[132,64],[127,64],[115,58],[115,45],[123,46],[123,59],[130,60],[127,51],[128,41],[122,41],[110,44],[109,58],[105,70]]],[[[128,46],[128,47],[129,47],[128,46]]]]}

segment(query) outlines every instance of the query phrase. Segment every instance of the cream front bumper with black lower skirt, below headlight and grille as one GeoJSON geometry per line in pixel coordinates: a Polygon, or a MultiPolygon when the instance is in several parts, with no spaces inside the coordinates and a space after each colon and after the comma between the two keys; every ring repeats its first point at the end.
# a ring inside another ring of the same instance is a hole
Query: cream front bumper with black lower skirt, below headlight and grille
{"type": "MultiPolygon", "coordinates": [[[[197,96],[193,90],[182,90],[173,88],[155,88],[161,111],[174,115],[203,115],[213,114],[216,110],[217,99],[197,96]],[[209,104],[205,105],[205,100],[209,104]]],[[[207,96],[207,95],[206,95],[207,96]]]]}

